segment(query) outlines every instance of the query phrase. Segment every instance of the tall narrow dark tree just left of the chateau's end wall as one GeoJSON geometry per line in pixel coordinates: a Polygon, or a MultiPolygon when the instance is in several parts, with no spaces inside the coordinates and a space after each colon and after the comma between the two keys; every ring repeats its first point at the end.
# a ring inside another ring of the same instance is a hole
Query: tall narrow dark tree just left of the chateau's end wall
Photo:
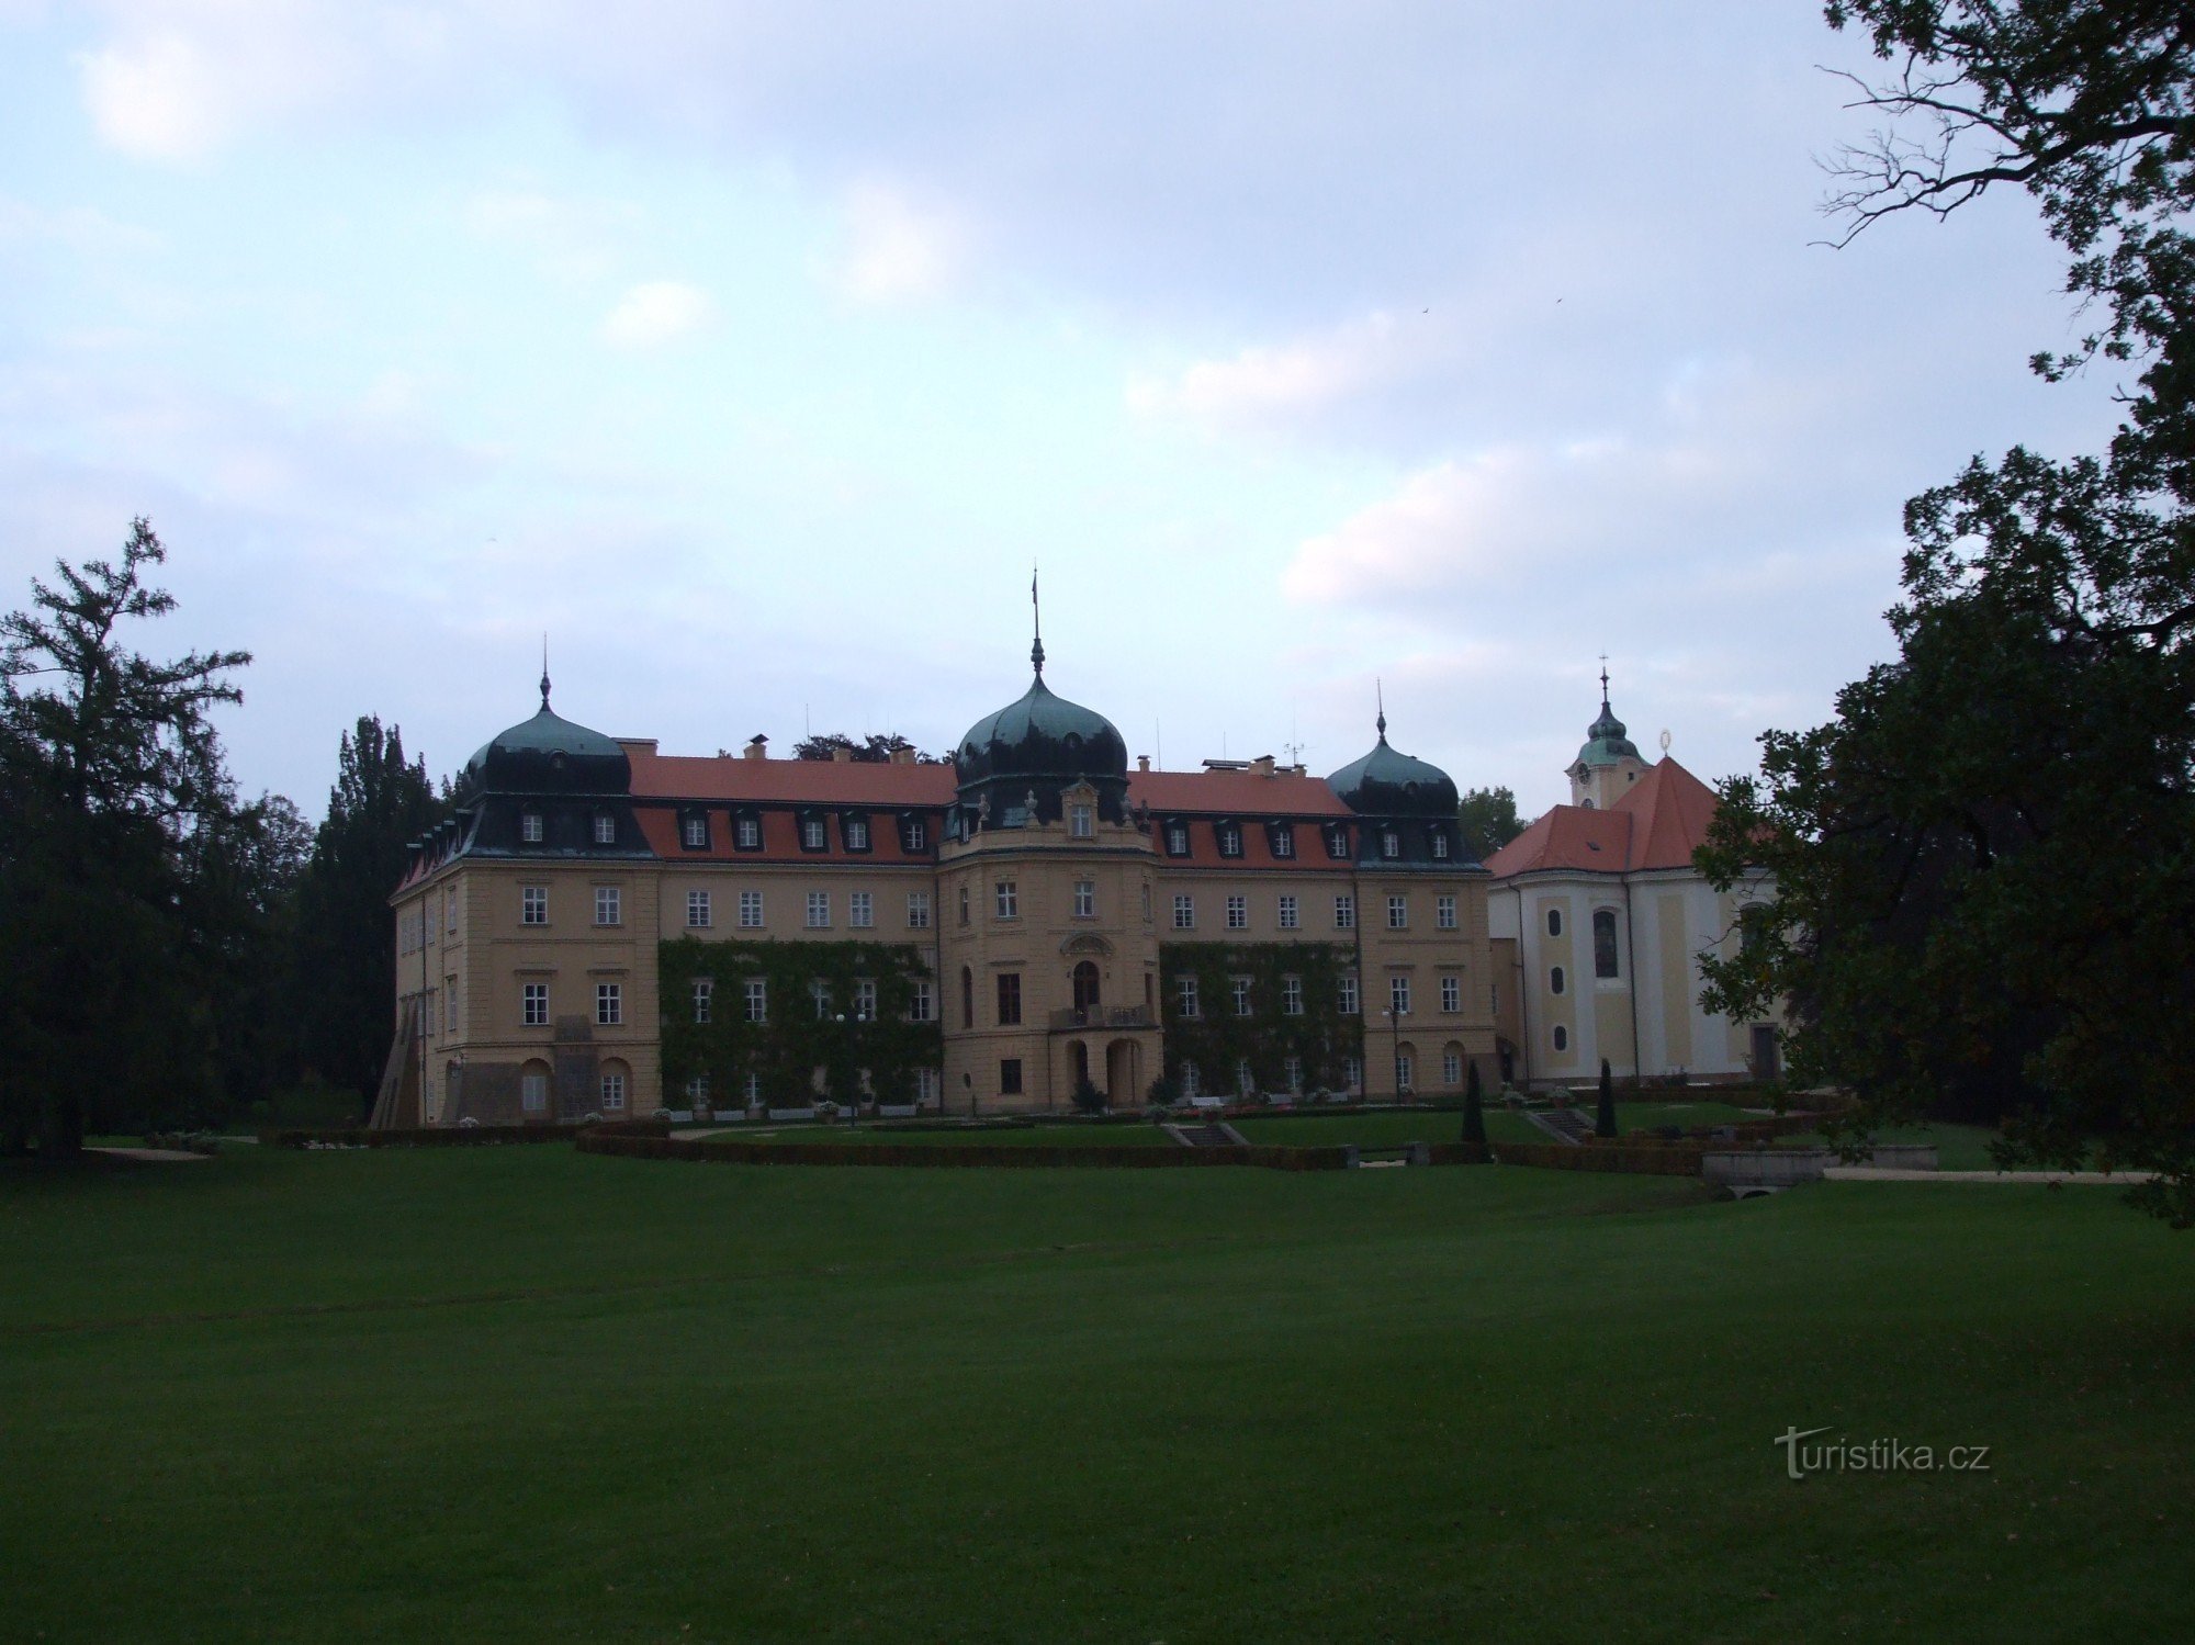
{"type": "Polygon", "coordinates": [[[389,893],[404,877],[404,849],[450,814],[426,761],[404,757],[404,733],[378,715],[345,733],[327,818],[299,880],[294,974],[301,1062],[331,1086],[373,1103],[389,1059],[395,945],[389,893]]]}

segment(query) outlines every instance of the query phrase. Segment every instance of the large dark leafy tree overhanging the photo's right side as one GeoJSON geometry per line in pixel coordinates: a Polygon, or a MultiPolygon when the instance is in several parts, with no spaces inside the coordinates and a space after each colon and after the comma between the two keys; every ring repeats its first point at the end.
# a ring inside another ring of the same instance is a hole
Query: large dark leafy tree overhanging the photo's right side
{"type": "MultiPolygon", "coordinates": [[[[2098,316],[2046,377],[2125,362],[2103,456],[1975,458],[1905,509],[1901,654],[1837,719],[1763,737],[1701,866],[1774,871],[1778,917],[1710,1005],[1787,996],[1796,1081],[1848,1130],[2004,1119],[2000,1160],[2153,1169],[2195,1226],[2195,18],[2158,0],[1839,0],[1892,64],[1842,156],[1859,232],[2026,189],[2098,316]],[[1914,129],[1918,127],[1918,132],[1914,129]]],[[[1850,235],[1846,237],[1850,239],[1850,235]]]]}

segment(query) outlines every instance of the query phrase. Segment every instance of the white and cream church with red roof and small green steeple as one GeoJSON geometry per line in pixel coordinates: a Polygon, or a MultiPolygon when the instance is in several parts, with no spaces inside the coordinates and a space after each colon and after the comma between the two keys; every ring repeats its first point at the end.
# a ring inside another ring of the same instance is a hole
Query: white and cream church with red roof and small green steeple
{"type": "MultiPolygon", "coordinates": [[[[1668,739],[1664,737],[1664,744],[1668,739]]],[[[1646,763],[1609,706],[1569,763],[1556,805],[1486,860],[1488,928],[1501,989],[1504,1075],[1519,1086],[1616,1077],[1771,1079],[1774,1020],[1732,1022],[1701,1005],[1701,954],[1727,954],[1774,886],[1727,893],[1692,866],[1714,792],[1670,759],[1646,763]]]]}

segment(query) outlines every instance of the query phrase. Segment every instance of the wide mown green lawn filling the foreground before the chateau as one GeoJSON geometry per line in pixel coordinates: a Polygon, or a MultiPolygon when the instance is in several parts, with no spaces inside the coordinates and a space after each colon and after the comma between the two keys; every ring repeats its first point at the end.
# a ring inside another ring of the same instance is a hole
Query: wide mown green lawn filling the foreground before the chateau
{"type": "Polygon", "coordinates": [[[11,1167],[0,1634],[2186,1638],[2191,1298],[2109,1189],[11,1167]]]}

